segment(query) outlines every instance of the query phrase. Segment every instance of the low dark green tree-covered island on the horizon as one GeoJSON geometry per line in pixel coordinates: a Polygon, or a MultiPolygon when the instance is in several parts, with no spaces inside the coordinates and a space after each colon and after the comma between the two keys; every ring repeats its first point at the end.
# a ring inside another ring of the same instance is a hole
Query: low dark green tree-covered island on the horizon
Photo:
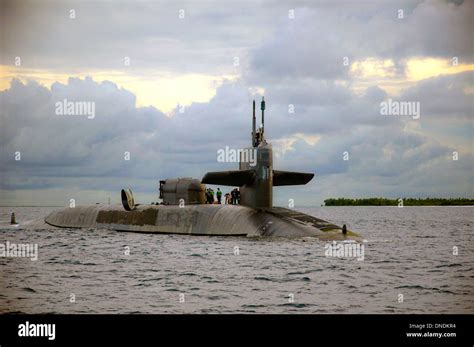
{"type": "MultiPolygon", "coordinates": [[[[411,199],[404,198],[403,206],[464,206],[474,205],[474,199],[437,199],[437,198],[426,198],[426,199],[411,199]]],[[[385,198],[363,198],[363,199],[326,199],[324,200],[325,206],[398,206],[398,199],[385,199],[385,198]]]]}

